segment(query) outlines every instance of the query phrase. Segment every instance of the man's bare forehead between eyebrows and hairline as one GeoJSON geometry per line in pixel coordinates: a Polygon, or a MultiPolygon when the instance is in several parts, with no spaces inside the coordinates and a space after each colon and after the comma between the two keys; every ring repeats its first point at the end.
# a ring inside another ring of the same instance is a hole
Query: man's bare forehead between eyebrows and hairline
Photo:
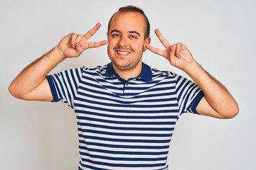
{"type": "Polygon", "coordinates": [[[145,29],[146,23],[144,21],[144,16],[142,13],[138,12],[118,12],[113,16],[112,21],[110,22],[110,32],[111,30],[136,30],[144,33],[145,29]]]}

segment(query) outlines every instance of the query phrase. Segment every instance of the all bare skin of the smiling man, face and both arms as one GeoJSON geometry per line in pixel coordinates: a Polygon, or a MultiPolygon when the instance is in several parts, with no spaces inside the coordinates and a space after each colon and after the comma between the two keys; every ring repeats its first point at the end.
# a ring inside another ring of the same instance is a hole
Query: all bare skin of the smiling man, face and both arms
{"type": "Polygon", "coordinates": [[[10,93],[16,98],[33,101],[52,101],[53,96],[46,75],[58,63],[67,57],[78,57],[84,50],[107,44],[107,52],[112,60],[115,72],[123,79],[137,77],[142,71],[142,54],[148,49],[186,72],[202,89],[205,96],[201,99],[196,110],[201,115],[214,118],[233,118],[239,108],[235,99],[218,80],[206,72],[194,60],[191,52],[182,43],[170,45],[155,30],[165,49],[161,50],[150,45],[150,38],[144,40],[145,23],[142,14],[137,12],[117,13],[110,25],[107,40],[88,42],[88,39],[100,28],[100,23],[85,35],[70,33],[50,52],[31,63],[18,74],[9,86],[10,93]]]}

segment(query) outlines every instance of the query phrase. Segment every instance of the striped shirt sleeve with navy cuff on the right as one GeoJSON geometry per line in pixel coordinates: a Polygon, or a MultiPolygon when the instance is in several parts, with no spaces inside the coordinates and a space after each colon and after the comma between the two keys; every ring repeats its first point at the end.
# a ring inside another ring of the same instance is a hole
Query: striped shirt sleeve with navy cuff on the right
{"type": "Polygon", "coordinates": [[[176,75],[176,94],[180,115],[182,113],[198,114],[196,107],[204,94],[193,81],[176,75]]]}

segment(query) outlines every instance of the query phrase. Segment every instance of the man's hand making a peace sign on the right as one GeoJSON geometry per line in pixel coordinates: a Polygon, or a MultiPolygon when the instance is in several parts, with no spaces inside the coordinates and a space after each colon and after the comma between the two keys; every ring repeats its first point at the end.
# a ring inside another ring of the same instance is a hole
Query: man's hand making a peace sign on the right
{"type": "Polygon", "coordinates": [[[158,29],[155,30],[155,33],[157,38],[159,38],[159,40],[164,45],[164,47],[166,47],[166,49],[160,50],[156,47],[152,47],[149,44],[146,44],[146,48],[149,49],[151,52],[156,53],[157,55],[165,57],[172,65],[185,71],[189,64],[194,61],[193,56],[188,48],[181,43],[170,45],[166,38],[161,35],[158,29]]]}

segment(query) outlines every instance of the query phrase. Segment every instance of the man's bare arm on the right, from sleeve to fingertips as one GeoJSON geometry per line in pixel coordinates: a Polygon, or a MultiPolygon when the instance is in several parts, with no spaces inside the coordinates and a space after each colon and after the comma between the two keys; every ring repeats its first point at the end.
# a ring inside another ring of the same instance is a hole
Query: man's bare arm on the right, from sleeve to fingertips
{"type": "Polygon", "coordinates": [[[196,108],[199,114],[214,118],[233,118],[238,114],[239,108],[235,99],[217,79],[208,74],[193,59],[185,45],[181,43],[170,45],[159,30],[156,30],[156,35],[166,49],[160,50],[149,44],[146,45],[146,48],[165,57],[172,65],[182,69],[198,84],[205,94],[196,108]]]}

